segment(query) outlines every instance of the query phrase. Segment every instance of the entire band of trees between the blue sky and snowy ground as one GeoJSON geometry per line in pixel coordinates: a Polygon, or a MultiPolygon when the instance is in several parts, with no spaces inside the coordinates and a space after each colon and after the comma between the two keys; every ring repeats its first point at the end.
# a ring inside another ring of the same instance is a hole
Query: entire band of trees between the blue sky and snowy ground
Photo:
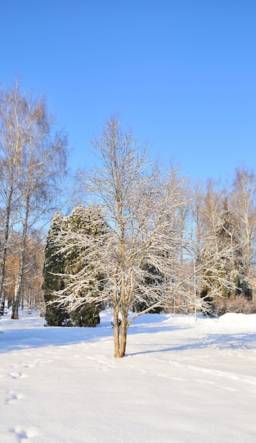
{"type": "Polygon", "coordinates": [[[98,166],[80,174],[81,205],[62,217],[66,134],[44,98],[1,88],[1,313],[8,302],[18,318],[25,304],[49,324],[93,326],[111,304],[122,356],[130,311],[253,311],[255,172],[194,185],[150,162],[118,116],[92,145],[98,166]]]}

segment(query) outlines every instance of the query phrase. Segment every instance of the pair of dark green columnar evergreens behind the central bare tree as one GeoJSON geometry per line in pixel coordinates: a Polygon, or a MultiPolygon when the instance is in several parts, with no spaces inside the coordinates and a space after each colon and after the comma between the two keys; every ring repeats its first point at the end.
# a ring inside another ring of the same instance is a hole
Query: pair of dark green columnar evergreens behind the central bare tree
{"type": "Polygon", "coordinates": [[[48,302],[54,301],[54,293],[59,291],[68,299],[74,292],[77,281],[84,278],[84,268],[91,270],[94,267],[96,257],[91,253],[90,263],[86,263],[88,251],[85,246],[81,246],[80,236],[93,236],[96,239],[105,230],[103,217],[94,207],[85,208],[79,205],[71,215],[64,218],[59,212],[55,214],[47,235],[42,285],[47,304],[45,319],[48,326],[96,326],[100,323],[100,304],[97,303],[98,290],[103,286],[103,275],[100,273],[95,273],[94,280],[91,281],[90,302],[81,303],[88,292],[86,287],[76,292],[79,306],[75,303],[74,306],[69,306],[69,310],[65,309],[65,303],[60,307],[48,302]]]}

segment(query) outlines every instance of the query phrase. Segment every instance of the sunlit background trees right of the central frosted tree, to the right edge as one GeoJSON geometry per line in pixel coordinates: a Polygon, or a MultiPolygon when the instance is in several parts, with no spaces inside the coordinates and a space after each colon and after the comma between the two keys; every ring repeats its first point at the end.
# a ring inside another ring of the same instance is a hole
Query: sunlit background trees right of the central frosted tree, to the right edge
{"type": "Polygon", "coordinates": [[[209,309],[210,305],[217,314],[228,309],[250,311],[246,301],[253,301],[256,277],[255,191],[255,173],[245,168],[238,168],[225,186],[209,180],[204,189],[194,188],[196,260],[205,276],[199,295],[206,301],[204,306],[209,309]],[[213,259],[214,269],[209,270],[213,259]],[[209,290],[209,284],[213,289],[209,290]]]}

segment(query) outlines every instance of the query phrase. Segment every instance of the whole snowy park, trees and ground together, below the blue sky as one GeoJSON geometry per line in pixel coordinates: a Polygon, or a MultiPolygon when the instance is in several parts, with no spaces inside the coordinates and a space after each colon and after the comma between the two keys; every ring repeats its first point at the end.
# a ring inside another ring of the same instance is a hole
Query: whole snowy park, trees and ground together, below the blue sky
{"type": "Polygon", "coordinates": [[[254,442],[255,173],[192,187],[113,115],[63,214],[65,138],[1,94],[1,441],[254,442]]]}

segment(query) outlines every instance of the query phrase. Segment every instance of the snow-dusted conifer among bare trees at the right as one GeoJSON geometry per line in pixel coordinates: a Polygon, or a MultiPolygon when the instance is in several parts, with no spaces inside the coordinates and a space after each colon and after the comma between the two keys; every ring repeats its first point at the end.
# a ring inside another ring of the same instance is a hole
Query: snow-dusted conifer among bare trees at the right
{"type": "Polygon", "coordinates": [[[228,207],[227,192],[216,192],[209,183],[202,214],[204,241],[199,257],[200,295],[204,309],[216,310],[221,298],[233,298],[247,292],[243,262],[243,243],[235,222],[235,212],[228,207]],[[214,306],[214,307],[213,307],[214,306]]]}

